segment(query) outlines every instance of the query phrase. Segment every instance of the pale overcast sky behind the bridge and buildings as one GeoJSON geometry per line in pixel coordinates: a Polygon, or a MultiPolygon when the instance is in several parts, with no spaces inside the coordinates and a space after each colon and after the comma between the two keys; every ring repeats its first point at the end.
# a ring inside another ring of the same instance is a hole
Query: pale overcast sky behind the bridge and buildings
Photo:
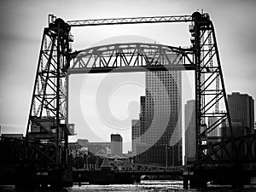
{"type": "MultiPolygon", "coordinates": [[[[227,93],[240,91],[256,98],[256,1],[254,0],[2,0],[0,2],[0,125],[2,125],[2,132],[24,133],[26,131],[38,53],[43,29],[48,25],[49,14],[54,14],[64,20],[85,20],[191,15],[196,9],[203,9],[205,13],[209,13],[215,26],[227,93]]],[[[120,38],[114,37],[118,36],[123,36],[122,39],[132,37],[134,41],[145,40],[174,46],[189,45],[187,24],[92,26],[74,28],[72,32],[75,36],[74,49],[86,49],[94,44],[109,43],[111,42],[109,39],[116,42],[120,38]]],[[[119,90],[113,93],[114,98],[124,98],[119,94],[126,91],[124,100],[114,101],[118,103],[125,101],[122,109],[119,105],[111,105],[113,115],[117,116],[117,119],[138,118],[138,96],[143,94],[144,79],[139,73],[134,73],[129,77],[137,80],[134,81],[135,83],[119,86],[119,90]],[[134,94],[129,93],[131,91],[127,92],[129,89],[133,90],[134,94]],[[115,113],[117,111],[122,113],[115,113]]],[[[122,82],[128,82],[129,77],[122,76],[124,78],[122,82]]],[[[81,105],[86,105],[83,102],[84,91],[98,86],[96,83],[92,86],[90,82],[96,82],[96,79],[98,83],[101,79],[110,79],[110,81],[112,79],[114,82],[113,79],[119,78],[121,77],[111,75],[99,78],[93,76],[85,80],[84,76],[71,78],[73,86],[70,88],[72,90],[70,98],[79,96],[79,101],[71,102],[73,111],[70,112],[76,114],[76,117],[71,117],[73,118],[71,121],[78,125],[78,137],[90,137],[90,141],[99,141],[103,137],[107,141],[110,133],[121,132],[110,129],[106,131],[108,132],[106,134],[99,129],[100,125],[97,129],[93,128],[86,132],[84,128],[81,128],[84,126],[82,123],[74,122],[84,118],[86,120],[88,117],[86,110],[96,111],[96,107],[93,108],[93,106],[90,106],[90,109],[81,107],[81,105]],[[79,105],[80,113],[78,114],[76,105],[79,105]]],[[[110,84],[109,86],[114,88],[116,85],[110,84]]],[[[89,93],[93,95],[94,91],[100,90],[92,90],[89,93]]],[[[187,97],[186,99],[189,99],[189,96],[187,97]]],[[[87,122],[88,124],[91,123],[87,122]]],[[[128,135],[125,139],[127,138],[128,135]]]]}

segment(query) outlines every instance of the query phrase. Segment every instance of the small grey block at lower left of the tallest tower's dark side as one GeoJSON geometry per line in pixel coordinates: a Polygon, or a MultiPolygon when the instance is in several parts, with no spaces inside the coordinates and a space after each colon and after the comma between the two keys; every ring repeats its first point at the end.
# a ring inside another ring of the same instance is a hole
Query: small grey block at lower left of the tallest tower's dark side
{"type": "Polygon", "coordinates": [[[137,154],[137,143],[141,143],[141,121],[139,119],[131,120],[131,151],[137,154]]]}

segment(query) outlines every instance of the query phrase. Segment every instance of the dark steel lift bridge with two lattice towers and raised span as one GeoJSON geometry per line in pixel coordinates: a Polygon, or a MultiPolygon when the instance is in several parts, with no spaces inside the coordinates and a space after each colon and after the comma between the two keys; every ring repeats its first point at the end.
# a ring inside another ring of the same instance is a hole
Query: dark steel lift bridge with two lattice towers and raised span
{"type": "MultiPolygon", "coordinates": [[[[67,22],[49,15],[49,26],[44,28],[41,42],[26,139],[15,144],[2,138],[1,146],[12,143],[9,144],[13,145],[12,150],[19,151],[10,154],[16,155],[15,160],[11,161],[23,165],[20,170],[30,170],[30,173],[26,172],[27,181],[32,178],[32,172],[50,175],[50,171],[57,172],[52,173],[58,176],[55,177],[56,183],[70,181],[67,162],[67,138],[73,134],[73,127],[67,124],[70,74],[185,70],[195,72],[196,157],[192,166],[183,166],[184,172],[193,173],[188,179],[195,187],[207,183],[209,179],[214,180],[202,176],[209,167],[216,168],[211,170],[217,172],[221,170],[219,167],[236,167],[232,170],[238,170],[237,174],[240,174],[243,165],[256,162],[255,134],[234,137],[214,26],[208,14],[199,12],[193,15],[67,22]],[[143,23],[185,23],[191,35],[191,44],[186,48],[165,44],[107,44],[72,50],[73,27],[143,23]],[[172,55],[172,59],[169,55],[172,55]],[[212,117],[215,122],[207,127],[207,119],[212,117]],[[225,137],[207,137],[219,127],[226,132],[225,137]],[[244,153],[241,153],[241,149],[244,153]]],[[[7,153],[8,149],[2,147],[1,150],[7,153]]],[[[8,164],[7,160],[2,161],[8,164]]],[[[26,183],[24,179],[22,182],[26,183]]]]}

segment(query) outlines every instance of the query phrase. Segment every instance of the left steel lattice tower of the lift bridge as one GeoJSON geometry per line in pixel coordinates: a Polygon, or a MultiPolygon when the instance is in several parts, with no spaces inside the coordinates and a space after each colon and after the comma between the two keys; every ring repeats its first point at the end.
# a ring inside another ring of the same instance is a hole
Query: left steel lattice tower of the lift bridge
{"type": "Polygon", "coordinates": [[[67,164],[66,74],[71,53],[71,26],[49,15],[39,53],[38,69],[26,128],[26,139],[47,143],[55,148],[50,164],[67,164]],[[53,22],[54,20],[54,22],[53,22]]]}

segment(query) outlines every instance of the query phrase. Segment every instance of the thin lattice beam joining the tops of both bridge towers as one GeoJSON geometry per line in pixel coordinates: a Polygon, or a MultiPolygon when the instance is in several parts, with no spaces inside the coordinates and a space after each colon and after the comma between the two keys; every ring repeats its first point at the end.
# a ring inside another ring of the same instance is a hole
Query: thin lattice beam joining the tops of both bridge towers
{"type": "Polygon", "coordinates": [[[102,26],[102,25],[117,25],[117,24],[189,22],[189,21],[192,21],[191,15],[132,17],[132,18],[99,19],[99,20],[68,20],[67,24],[70,26],[102,26]]]}

